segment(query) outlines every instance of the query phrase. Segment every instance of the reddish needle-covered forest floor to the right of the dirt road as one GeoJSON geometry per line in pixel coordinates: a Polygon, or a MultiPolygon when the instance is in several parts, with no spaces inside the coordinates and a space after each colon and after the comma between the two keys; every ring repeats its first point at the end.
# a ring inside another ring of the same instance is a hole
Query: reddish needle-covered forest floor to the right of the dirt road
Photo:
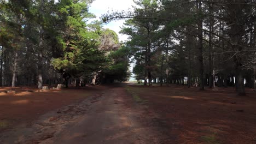
{"type": "Polygon", "coordinates": [[[256,143],[256,92],[236,96],[235,88],[127,86],[133,99],[156,113],[158,122],[175,136],[172,143],[256,143]],[[146,102],[143,102],[146,101],[146,102]]]}

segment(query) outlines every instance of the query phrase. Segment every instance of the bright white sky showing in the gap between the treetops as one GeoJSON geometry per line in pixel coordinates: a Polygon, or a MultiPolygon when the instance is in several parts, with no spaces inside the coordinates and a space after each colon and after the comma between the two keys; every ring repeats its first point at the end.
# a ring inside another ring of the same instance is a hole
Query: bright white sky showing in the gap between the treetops
{"type": "MultiPolygon", "coordinates": [[[[102,14],[107,14],[108,11],[121,11],[121,10],[128,10],[132,8],[133,0],[95,0],[92,2],[91,7],[89,8],[89,12],[95,14],[97,19],[102,14]]],[[[104,25],[103,28],[109,28],[115,31],[119,36],[119,41],[127,40],[127,35],[119,34],[121,30],[121,26],[123,26],[125,20],[118,20],[109,22],[107,25],[104,25]]]]}

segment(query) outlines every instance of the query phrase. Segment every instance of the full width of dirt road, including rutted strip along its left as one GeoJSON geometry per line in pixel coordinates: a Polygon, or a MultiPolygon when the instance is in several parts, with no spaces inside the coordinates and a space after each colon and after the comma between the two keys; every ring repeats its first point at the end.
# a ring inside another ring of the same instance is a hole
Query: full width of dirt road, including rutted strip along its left
{"type": "Polygon", "coordinates": [[[167,138],[158,128],[147,124],[145,107],[121,85],[111,86],[46,113],[31,127],[5,132],[0,143],[165,143],[167,138]]]}

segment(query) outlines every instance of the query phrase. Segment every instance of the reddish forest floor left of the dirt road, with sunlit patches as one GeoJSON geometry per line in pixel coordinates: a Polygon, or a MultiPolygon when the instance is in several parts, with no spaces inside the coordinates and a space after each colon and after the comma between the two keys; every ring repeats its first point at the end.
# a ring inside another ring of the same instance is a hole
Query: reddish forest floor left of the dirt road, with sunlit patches
{"type": "Polygon", "coordinates": [[[19,124],[30,124],[40,115],[62,106],[82,101],[89,95],[101,91],[102,87],[68,88],[44,90],[36,87],[0,88],[0,131],[19,124]],[[8,91],[8,92],[7,92],[8,91]]]}

